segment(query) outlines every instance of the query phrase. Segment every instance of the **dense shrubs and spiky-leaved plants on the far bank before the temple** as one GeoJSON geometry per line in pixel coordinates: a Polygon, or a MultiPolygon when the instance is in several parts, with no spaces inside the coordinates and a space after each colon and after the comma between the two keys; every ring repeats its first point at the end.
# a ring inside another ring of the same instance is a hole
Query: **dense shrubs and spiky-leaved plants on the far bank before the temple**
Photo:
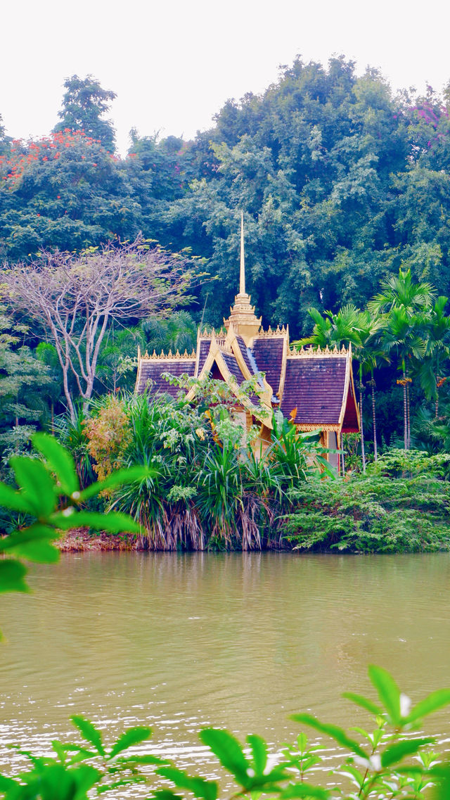
{"type": "MultiPolygon", "coordinates": [[[[392,449],[365,474],[337,478],[317,434],[298,433],[279,413],[272,443],[255,453],[252,432],[246,434],[234,416],[234,404],[228,387],[214,381],[199,386],[196,403],[182,396],[148,402],[145,396],[109,395],[80,422],[81,437],[74,437],[69,420],[60,435],[85,479],[86,462],[102,479],[118,469],[149,470],[141,481],[102,492],[95,501],[96,508],[131,514],[140,526],[137,547],[449,549],[450,455],[392,449]]],[[[76,546],[75,540],[67,544],[76,546]]],[[[79,548],[87,546],[85,534],[79,548]]],[[[116,546],[130,546],[129,538],[116,546]]]]}

